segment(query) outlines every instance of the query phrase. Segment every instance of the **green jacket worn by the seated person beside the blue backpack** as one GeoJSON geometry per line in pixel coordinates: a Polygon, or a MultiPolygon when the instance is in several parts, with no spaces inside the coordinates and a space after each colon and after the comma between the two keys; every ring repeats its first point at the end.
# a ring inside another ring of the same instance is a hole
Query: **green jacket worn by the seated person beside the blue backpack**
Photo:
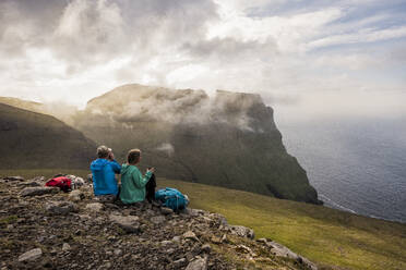
{"type": "Polygon", "coordinates": [[[120,199],[123,204],[133,204],[145,199],[145,185],[152,172],[143,176],[136,165],[122,164],[120,199]]]}

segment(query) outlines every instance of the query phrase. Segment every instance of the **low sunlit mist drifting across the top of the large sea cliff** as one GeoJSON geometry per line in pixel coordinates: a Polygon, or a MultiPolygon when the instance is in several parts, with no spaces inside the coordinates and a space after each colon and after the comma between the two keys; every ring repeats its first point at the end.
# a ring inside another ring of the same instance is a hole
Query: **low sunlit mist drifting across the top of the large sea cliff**
{"type": "Polygon", "coordinates": [[[231,94],[218,90],[208,97],[203,90],[174,90],[136,84],[115,88],[106,96],[89,101],[85,115],[91,121],[131,128],[139,123],[200,124],[220,123],[242,131],[251,126],[251,110],[263,106],[258,95],[231,94]]]}

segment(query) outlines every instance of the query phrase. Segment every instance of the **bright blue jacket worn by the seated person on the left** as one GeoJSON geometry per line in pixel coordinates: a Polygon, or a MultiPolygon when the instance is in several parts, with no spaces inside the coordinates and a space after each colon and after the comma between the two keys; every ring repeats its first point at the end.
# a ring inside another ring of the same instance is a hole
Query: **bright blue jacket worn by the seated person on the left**
{"type": "Polygon", "coordinates": [[[120,164],[114,160],[96,159],[91,164],[93,174],[93,189],[95,195],[117,195],[118,185],[116,173],[120,173],[120,164]]]}

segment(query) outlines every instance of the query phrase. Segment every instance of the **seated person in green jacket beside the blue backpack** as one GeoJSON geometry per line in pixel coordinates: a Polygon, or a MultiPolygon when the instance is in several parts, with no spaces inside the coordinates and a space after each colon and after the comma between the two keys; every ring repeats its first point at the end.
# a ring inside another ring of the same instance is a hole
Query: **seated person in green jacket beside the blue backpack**
{"type": "Polygon", "coordinates": [[[132,149],[127,156],[127,163],[121,167],[120,199],[126,205],[144,201],[146,195],[145,185],[155,171],[154,168],[151,168],[146,170],[145,175],[142,175],[136,167],[140,161],[141,150],[132,149]]]}

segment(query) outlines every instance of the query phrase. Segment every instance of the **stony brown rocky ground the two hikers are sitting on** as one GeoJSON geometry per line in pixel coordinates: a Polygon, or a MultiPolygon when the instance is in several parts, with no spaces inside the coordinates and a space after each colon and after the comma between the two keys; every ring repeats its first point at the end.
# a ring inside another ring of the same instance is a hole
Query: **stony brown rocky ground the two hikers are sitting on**
{"type": "Polygon", "coordinates": [[[0,269],[317,269],[218,213],[100,202],[46,180],[0,179],[0,269]]]}

